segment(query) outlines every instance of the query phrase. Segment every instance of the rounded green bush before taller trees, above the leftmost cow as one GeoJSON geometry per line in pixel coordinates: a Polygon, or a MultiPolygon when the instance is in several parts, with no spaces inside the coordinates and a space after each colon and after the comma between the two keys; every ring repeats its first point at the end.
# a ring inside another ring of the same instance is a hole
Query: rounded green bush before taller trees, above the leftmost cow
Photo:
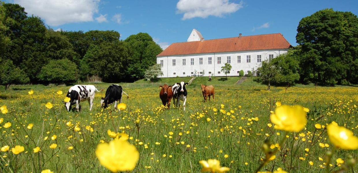
{"type": "Polygon", "coordinates": [[[38,78],[45,82],[72,83],[77,80],[77,65],[68,59],[51,60],[43,66],[38,78]]]}

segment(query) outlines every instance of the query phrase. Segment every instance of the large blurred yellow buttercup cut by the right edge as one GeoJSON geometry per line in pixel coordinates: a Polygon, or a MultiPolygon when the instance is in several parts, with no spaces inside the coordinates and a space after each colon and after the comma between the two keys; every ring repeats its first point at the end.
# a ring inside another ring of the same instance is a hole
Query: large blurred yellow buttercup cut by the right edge
{"type": "Polygon", "coordinates": [[[327,126],[327,134],[330,142],[335,147],[346,150],[358,149],[358,137],[353,135],[353,132],[335,124],[327,126]]]}

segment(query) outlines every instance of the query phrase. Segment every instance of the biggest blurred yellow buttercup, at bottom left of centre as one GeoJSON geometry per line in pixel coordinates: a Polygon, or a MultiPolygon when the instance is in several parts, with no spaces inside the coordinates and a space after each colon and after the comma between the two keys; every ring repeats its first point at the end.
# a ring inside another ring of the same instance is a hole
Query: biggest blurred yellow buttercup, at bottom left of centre
{"type": "Polygon", "coordinates": [[[131,171],[139,160],[136,147],[126,140],[119,139],[98,144],[96,156],[100,164],[112,172],[131,171]]]}

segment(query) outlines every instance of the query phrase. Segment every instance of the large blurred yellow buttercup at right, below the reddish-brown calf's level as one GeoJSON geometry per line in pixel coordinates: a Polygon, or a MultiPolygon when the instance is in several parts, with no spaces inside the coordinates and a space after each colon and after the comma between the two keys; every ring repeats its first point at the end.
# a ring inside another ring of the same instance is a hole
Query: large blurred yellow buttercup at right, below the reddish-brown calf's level
{"type": "Polygon", "coordinates": [[[275,124],[274,128],[287,132],[299,132],[307,123],[306,112],[299,105],[282,105],[270,115],[270,120],[275,124]]]}

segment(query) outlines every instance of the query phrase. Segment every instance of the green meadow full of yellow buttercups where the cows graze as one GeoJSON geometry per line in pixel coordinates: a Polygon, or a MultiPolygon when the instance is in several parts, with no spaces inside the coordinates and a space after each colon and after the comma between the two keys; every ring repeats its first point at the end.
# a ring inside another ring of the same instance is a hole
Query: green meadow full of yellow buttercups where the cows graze
{"type": "Polygon", "coordinates": [[[214,85],[210,102],[188,85],[185,112],[146,83],[121,84],[120,110],[101,110],[101,92],[79,113],[62,103],[69,86],[2,89],[0,173],[357,172],[357,87],[252,82],[214,85]]]}

